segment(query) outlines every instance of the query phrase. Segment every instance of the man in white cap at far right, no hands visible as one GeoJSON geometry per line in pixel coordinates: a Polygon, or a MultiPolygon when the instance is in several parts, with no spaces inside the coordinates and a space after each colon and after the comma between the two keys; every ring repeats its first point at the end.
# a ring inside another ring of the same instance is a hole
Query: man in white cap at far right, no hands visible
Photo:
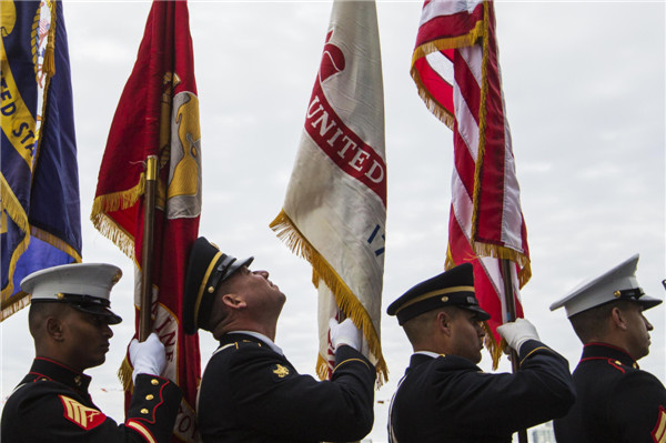
{"type": "Polygon", "coordinates": [[[553,303],[564,306],[584,344],[574,371],[576,403],[554,421],[561,443],[666,442],[666,390],[637,360],[653,325],[643,311],[662,303],[636,280],[638,254],[553,303]]]}

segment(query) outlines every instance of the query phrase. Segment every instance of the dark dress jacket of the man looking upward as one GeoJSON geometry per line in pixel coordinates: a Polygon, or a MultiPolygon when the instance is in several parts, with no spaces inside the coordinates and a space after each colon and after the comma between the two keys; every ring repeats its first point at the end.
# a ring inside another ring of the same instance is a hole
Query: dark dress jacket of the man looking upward
{"type": "Polygon", "coordinates": [[[320,382],[260,339],[225,334],[201,381],[199,430],[204,443],[356,441],[372,429],[375,376],[346,345],[320,382]]]}

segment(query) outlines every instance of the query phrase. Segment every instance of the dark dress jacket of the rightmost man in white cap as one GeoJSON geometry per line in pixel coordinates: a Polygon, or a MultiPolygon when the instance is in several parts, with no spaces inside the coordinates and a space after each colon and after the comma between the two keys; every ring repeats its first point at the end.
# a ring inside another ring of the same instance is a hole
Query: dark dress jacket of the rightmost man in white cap
{"type": "Polygon", "coordinates": [[[574,407],[553,423],[558,442],[666,442],[666,390],[624,351],[585,345],[574,383],[574,407]]]}

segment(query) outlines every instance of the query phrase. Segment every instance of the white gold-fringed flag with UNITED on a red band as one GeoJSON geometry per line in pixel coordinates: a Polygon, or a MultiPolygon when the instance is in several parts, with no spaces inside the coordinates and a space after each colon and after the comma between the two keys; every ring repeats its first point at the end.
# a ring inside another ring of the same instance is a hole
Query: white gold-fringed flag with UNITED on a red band
{"type": "MultiPolygon", "coordinates": [[[[312,264],[319,289],[317,373],[332,369],[329,319],[351,318],[386,376],[384,91],[374,1],[335,1],[282,212],[271,223],[312,264]]],[[[380,377],[380,380],[381,380],[380,377]]]]}

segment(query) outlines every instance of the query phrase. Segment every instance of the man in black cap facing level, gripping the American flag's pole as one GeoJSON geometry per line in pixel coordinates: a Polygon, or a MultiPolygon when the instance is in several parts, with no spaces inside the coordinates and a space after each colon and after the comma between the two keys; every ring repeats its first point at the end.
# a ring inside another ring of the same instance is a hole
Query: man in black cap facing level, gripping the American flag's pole
{"type": "Polygon", "coordinates": [[[511,442],[512,433],[564,415],[574,402],[567,361],[527,320],[497,329],[521,361],[515,374],[487,374],[472,264],[418,283],[394,301],[414,354],[389,412],[393,443],[511,442]]]}

